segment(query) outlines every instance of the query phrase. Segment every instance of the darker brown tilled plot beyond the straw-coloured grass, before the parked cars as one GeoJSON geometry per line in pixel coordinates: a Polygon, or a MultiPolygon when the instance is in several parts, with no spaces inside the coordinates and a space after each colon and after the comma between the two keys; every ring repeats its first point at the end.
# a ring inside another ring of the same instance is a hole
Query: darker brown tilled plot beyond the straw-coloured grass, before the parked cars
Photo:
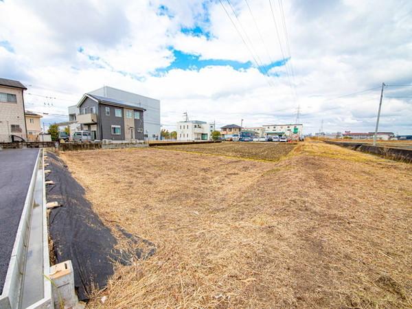
{"type": "Polygon", "coordinates": [[[224,141],[216,144],[176,145],[163,146],[161,148],[168,150],[198,152],[208,155],[222,155],[245,159],[276,161],[280,157],[287,155],[290,150],[295,148],[295,146],[296,144],[289,143],[224,141]]]}

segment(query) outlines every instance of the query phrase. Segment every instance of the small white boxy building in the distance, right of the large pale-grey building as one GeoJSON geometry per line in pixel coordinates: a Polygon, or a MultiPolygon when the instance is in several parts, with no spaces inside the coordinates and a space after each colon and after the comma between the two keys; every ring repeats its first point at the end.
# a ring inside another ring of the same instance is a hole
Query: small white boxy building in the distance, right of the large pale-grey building
{"type": "Polygon", "coordinates": [[[176,126],[178,141],[207,141],[211,139],[214,124],[207,124],[198,120],[178,122],[176,126]]]}

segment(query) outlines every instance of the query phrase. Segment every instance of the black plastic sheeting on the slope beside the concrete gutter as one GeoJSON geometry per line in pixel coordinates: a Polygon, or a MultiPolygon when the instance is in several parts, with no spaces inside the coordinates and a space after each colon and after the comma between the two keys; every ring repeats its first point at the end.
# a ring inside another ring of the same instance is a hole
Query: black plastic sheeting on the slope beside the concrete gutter
{"type": "Polygon", "coordinates": [[[47,201],[57,201],[62,207],[52,209],[49,215],[49,232],[58,263],[71,260],[78,297],[89,299],[93,286],[101,289],[113,275],[113,262],[132,264],[134,259],[146,259],[155,254],[155,244],[128,233],[117,226],[117,233],[130,242],[129,251],[115,249],[117,244],[111,229],[93,211],[84,198],[83,187],[71,176],[67,166],[53,153],[48,152],[52,172],[47,180],[47,201]]]}

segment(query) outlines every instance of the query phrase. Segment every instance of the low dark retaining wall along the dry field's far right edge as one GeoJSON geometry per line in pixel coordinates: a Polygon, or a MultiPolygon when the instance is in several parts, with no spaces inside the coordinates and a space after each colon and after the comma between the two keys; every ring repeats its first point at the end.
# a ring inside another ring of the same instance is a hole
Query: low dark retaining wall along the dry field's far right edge
{"type": "Polygon", "coordinates": [[[350,148],[352,150],[370,153],[373,155],[378,155],[396,161],[412,163],[412,150],[408,149],[373,146],[361,143],[344,143],[339,141],[325,141],[325,143],[334,144],[345,148],[350,148]]]}

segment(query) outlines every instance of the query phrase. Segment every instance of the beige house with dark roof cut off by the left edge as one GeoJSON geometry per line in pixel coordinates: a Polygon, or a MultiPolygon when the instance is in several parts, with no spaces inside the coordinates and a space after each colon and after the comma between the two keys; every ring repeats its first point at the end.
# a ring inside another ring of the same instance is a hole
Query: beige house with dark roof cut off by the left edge
{"type": "Polygon", "coordinates": [[[0,78],[0,142],[27,139],[23,91],[17,80],[0,78]]]}

